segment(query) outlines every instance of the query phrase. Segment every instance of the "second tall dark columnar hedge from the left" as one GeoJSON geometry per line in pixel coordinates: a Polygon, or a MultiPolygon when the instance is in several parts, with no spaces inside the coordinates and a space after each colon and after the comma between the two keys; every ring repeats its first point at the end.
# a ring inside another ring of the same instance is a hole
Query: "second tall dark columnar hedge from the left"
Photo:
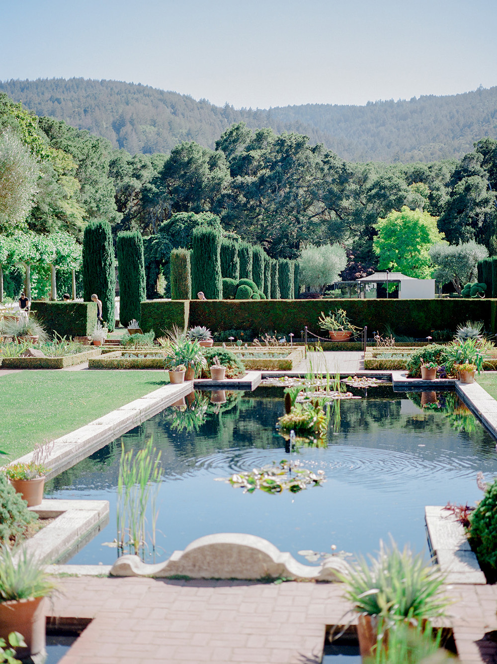
{"type": "Polygon", "coordinates": [[[117,234],[117,268],[119,272],[119,320],[127,327],[140,319],[140,302],[145,299],[145,266],[141,234],[123,231],[117,234]]]}

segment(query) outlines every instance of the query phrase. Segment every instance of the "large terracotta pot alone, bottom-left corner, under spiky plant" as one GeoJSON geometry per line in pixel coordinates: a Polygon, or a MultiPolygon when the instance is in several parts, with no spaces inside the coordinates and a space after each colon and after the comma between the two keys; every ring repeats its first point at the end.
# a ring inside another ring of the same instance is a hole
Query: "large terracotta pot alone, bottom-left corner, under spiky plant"
{"type": "Polygon", "coordinates": [[[0,603],[0,638],[11,631],[18,631],[26,641],[26,648],[16,648],[16,657],[38,655],[45,651],[45,602],[44,597],[32,600],[9,600],[0,603]]]}

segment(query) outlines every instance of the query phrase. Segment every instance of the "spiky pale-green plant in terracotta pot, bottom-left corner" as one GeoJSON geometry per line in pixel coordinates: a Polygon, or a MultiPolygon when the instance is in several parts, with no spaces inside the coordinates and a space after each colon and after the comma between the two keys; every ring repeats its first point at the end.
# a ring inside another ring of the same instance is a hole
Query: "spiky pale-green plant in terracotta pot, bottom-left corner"
{"type": "Polygon", "coordinates": [[[55,587],[44,564],[25,549],[0,546],[0,638],[7,640],[11,632],[19,631],[26,643],[18,649],[19,657],[44,652],[44,598],[55,587]]]}

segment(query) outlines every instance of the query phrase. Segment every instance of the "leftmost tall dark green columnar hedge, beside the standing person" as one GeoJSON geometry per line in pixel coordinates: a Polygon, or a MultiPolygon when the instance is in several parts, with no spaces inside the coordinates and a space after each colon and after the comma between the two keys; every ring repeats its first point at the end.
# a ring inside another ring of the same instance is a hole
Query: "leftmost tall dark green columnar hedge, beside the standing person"
{"type": "Polygon", "coordinates": [[[115,327],[115,259],[111,224],[91,221],[83,234],[83,297],[102,301],[102,317],[109,331],[115,327]]]}

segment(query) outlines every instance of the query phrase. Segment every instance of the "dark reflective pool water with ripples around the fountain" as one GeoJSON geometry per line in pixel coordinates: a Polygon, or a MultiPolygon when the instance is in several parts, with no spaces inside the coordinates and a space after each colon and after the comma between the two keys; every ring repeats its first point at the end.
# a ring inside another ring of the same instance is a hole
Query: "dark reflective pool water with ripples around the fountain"
{"type": "Polygon", "coordinates": [[[46,497],[111,503],[109,525],[70,562],[115,561],[117,550],[109,543],[116,537],[121,443],[138,450],[150,436],[162,452],[162,483],[157,546],[147,562],[223,532],[259,535],[301,562],[307,562],[298,554],[303,549],[374,553],[390,535],[428,555],[425,505],[472,505],[482,495],[477,471],[486,479],[497,475],[495,441],[454,394],[429,393],[421,404],[419,392],[381,386],[370,388],[367,398],[341,401],[325,448],[292,452],[304,467],[325,472],[321,487],[244,494],[215,479],[288,458],[274,426],[284,414],[283,391],[227,392],[221,405],[210,396],[197,393],[194,412],[166,408],[48,483],[46,497]]]}

